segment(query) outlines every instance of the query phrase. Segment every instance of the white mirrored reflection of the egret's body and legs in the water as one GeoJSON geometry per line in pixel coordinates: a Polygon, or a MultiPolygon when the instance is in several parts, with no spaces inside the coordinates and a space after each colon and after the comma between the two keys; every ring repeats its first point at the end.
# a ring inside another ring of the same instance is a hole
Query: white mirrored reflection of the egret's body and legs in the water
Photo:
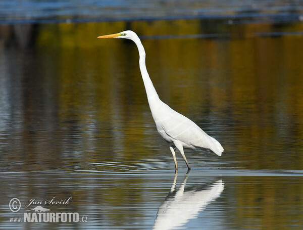
{"type": "Polygon", "coordinates": [[[188,172],[180,188],[176,188],[177,173],[165,201],[159,206],[153,229],[173,229],[197,218],[209,203],[220,197],[224,190],[222,179],[207,185],[185,189],[188,172]]]}

